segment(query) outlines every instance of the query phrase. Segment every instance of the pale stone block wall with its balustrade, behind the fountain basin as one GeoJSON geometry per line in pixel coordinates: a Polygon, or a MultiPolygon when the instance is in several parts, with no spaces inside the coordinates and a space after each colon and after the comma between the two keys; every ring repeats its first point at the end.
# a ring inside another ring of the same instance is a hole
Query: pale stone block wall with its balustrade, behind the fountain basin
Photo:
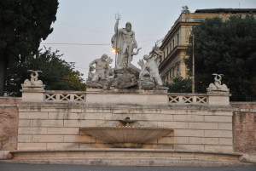
{"type": "Polygon", "coordinates": [[[138,126],[174,130],[143,148],[233,151],[230,94],[40,93],[44,94],[25,92],[29,98],[19,104],[18,150],[113,147],[80,128],[117,126],[119,120],[130,117],[138,126]]]}

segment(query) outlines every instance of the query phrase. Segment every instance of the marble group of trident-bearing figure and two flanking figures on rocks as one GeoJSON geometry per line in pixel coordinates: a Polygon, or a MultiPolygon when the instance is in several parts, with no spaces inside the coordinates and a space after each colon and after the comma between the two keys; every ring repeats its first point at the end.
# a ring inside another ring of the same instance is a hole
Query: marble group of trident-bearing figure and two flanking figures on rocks
{"type": "Polygon", "coordinates": [[[90,62],[87,85],[90,88],[103,89],[167,89],[162,87],[163,83],[158,70],[157,59],[161,52],[154,48],[149,54],[143,55],[139,60],[141,69],[133,66],[133,56],[139,54],[141,48],[137,48],[135,31],[131,30],[131,23],[127,22],[125,28],[119,29],[119,20],[114,25],[114,34],[111,38],[112,48],[116,52],[115,67],[109,64],[113,60],[107,54],[102,54],[100,59],[90,62]],[[145,60],[145,62],[144,62],[145,60]],[[93,72],[94,71],[94,72],[93,72]]]}

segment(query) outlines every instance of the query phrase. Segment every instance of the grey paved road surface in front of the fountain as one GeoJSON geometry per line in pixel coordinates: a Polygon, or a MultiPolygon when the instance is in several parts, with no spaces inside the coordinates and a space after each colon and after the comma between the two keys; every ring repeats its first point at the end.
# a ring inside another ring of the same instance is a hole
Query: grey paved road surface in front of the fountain
{"type": "Polygon", "coordinates": [[[0,162],[0,171],[256,171],[256,167],[130,167],[66,164],[20,164],[0,162]]]}

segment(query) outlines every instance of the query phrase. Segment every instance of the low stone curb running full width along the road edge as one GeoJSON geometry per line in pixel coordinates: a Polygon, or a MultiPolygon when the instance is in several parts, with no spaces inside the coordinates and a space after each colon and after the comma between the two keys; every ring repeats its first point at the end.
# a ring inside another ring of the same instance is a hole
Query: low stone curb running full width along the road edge
{"type": "Polygon", "coordinates": [[[116,158],[84,158],[62,160],[2,160],[6,163],[29,163],[29,164],[81,164],[81,165],[109,165],[109,166],[191,166],[191,167],[256,167],[256,163],[246,162],[206,162],[193,160],[164,160],[164,159],[122,159],[116,158]]]}

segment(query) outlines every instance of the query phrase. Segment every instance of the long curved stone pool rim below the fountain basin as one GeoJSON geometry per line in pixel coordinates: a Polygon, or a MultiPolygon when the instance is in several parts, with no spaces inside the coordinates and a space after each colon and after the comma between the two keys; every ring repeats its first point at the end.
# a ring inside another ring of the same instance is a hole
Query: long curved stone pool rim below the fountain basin
{"type": "Polygon", "coordinates": [[[240,153],[183,151],[169,149],[83,149],[83,150],[22,150],[10,151],[9,158],[16,162],[80,163],[102,165],[240,165],[240,153]]]}

